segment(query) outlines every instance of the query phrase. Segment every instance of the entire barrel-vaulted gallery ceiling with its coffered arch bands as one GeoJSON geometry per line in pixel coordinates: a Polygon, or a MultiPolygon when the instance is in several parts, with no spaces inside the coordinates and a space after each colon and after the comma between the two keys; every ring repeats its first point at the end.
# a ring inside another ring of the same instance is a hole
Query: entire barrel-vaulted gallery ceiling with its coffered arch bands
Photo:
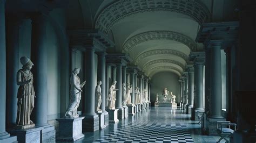
{"type": "MultiPolygon", "coordinates": [[[[112,51],[129,54],[132,62],[150,77],[161,71],[180,76],[190,52],[198,49],[194,40],[200,24],[210,19],[210,11],[199,0],[100,2],[87,3],[98,8],[88,11],[91,22],[84,25],[91,24],[109,35],[116,45],[112,51]]],[[[81,9],[85,11],[83,6],[81,9]]]]}

